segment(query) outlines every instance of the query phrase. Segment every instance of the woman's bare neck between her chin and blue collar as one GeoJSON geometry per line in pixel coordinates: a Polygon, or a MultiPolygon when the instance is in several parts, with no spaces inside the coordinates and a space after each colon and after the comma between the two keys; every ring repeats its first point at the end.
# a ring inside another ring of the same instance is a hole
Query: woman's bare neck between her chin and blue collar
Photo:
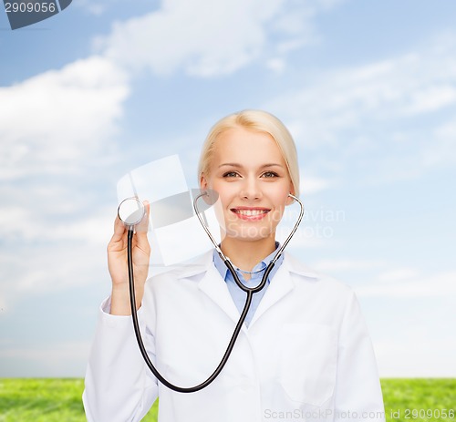
{"type": "Polygon", "coordinates": [[[254,266],[275,251],[274,235],[258,241],[244,241],[226,237],[221,244],[222,252],[242,270],[252,271],[254,266]]]}

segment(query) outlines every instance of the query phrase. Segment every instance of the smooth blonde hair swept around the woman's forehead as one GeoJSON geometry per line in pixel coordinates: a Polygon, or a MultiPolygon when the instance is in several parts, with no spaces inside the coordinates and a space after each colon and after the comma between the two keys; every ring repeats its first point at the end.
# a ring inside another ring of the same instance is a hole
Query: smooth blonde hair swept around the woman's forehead
{"type": "Polygon", "coordinates": [[[288,169],[293,185],[294,191],[292,193],[295,196],[299,196],[299,166],[297,163],[295,141],[288,129],[285,128],[285,125],[278,118],[262,110],[243,110],[233,113],[220,119],[212,126],[212,129],[202,144],[202,152],[198,165],[199,179],[201,179],[202,174],[209,176],[215,140],[226,130],[239,127],[271,135],[285,160],[286,168],[288,169]]]}

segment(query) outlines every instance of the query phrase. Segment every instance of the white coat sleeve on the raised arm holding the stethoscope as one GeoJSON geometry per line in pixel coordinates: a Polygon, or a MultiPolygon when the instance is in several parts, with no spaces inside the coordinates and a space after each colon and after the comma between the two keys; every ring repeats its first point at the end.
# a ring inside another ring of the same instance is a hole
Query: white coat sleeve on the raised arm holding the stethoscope
{"type": "MultiPolygon", "coordinates": [[[[110,300],[98,314],[98,326],[88,360],[83,403],[88,422],[139,421],[158,396],[157,380],[144,364],[130,316],[109,314],[110,300]]],[[[141,332],[152,361],[153,337],[144,324],[141,332]]]]}

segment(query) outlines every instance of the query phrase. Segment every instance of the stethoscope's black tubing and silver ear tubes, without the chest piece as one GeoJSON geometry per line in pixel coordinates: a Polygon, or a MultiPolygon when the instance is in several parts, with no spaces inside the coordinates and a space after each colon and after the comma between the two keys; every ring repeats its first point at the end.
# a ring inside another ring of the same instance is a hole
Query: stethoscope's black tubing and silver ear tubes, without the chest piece
{"type": "Polygon", "coordinates": [[[136,307],[136,295],[135,295],[136,293],[135,293],[135,285],[134,285],[135,283],[134,283],[134,273],[133,273],[133,260],[132,260],[132,252],[131,252],[131,249],[132,249],[131,245],[132,245],[133,234],[134,234],[134,226],[131,225],[128,228],[128,236],[127,236],[128,260],[127,261],[128,261],[128,268],[129,268],[130,309],[131,309],[131,319],[133,322],[133,328],[134,328],[134,332],[136,335],[136,340],[140,347],[140,354],[144,358],[144,361],[145,361],[146,365],[148,365],[152,374],[154,376],[156,376],[156,378],[161,382],[161,384],[163,384],[164,386],[167,386],[171,390],[177,391],[178,393],[195,393],[196,391],[200,391],[200,390],[202,390],[202,388],[209,386],[212,383],[212,381],[217,376],[220,375],[220,373],[223,370],[224,365],[226,365],[226,363],[228,362],[228,358],[230,357],[231,353],[233,352],[234,344],[236,343],[237,337],[239,336],[239,333],[241,333],[241,329],[243,327],[245,317],[247,316],[249,309],[250,309],[250,305],[252,304],[252,297],[253,297],[254,293],[260,292],[264,288],[267,278],[275,266],[275,262],[280,257],[282,252],[284,252],[286,244],[291,240],[291,238],[295,234],[295,231],[297,230],[297,227],[299,226],[299,223],[301,222],[303,215],[304,215],[304,206],[303,206],[302,202],[299,201],[294,195],[290,194],[290,196],[292,196],[295,199],[295,201],[297,201],[299,203],[299,205],[301,206],[301,212],[295,223],[295,227],[292,230],[292,232],[290,232],[288,237],[286,238],[282,247],[279,248],[279,250],[275,253],[275,257],[273,258],[273,260],[271,262],[269,262],[269,264],[267,265],[267,267],[264,271],[261,283],[259,283],[257,286],[254,286],[254,287],[247,287],[243,283],[241,283],[241,280],[239,280],[239,277],[233,268],[232,262],[229,260],[229,258],[227,258],[223,254],[223,252],[220,249],[220,247],[218,246],[217,242],[215,242],[215,240],[213,239],[212,234],[209,232],[206,225],[202,221],[202,218],[198,211],[198,207],[195,204],[196,204],[196,201],[198,201],[198,199],[201,198],[203,195],[204,195],[204,193],[197,196],[193,201],[193,206],[195,208],[195,211],[197,211],[196,214],[197,214],[198,218],[200,219],[200,221],[202,222],[202,227],[209,234],[209,237],[211,238],[216,251],[219,253],[221,258],[223,259],[223,262],[225,263],[225,265],[228,268],[228,270],[230,271],[230,273],[232,273],[235,283],[245,293],[247,293],[247,297],[245,299],[243,312],[242,312],[241,316],[239,317],[239,321],[237,322],[236,326],[234,327],[233,335],[230,339],[228,346],[226,347],[225,353],[223,354],[220,364],[217,365],[215,370],[212,372],[211,376],[209,376],[205,381],[203,381],[201,384],[198,384],[197,386],[190,386],[190,387],[175,386],[170,381],[168,381],[164,376],[161,375],[161,373],[158,371],[158,369],[155,367],[155,365],[153,365],[152,361],[150,360],[150,357],[147,353],[144,342],[142,341],[142,336],[140,334],[140,324],[138,321],[138,314],[137,314],[137,307],[136,307]]]}

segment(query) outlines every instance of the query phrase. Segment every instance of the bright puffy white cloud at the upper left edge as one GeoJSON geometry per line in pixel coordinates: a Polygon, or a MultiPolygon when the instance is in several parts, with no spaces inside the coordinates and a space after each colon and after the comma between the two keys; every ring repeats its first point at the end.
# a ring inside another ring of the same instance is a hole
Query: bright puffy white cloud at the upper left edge
{"type": "Polygon", "coordinates": [[[76,171],[107,147],[128,93],[125,74],[103,57],[0,88],[0,179],[76,171]]]}

